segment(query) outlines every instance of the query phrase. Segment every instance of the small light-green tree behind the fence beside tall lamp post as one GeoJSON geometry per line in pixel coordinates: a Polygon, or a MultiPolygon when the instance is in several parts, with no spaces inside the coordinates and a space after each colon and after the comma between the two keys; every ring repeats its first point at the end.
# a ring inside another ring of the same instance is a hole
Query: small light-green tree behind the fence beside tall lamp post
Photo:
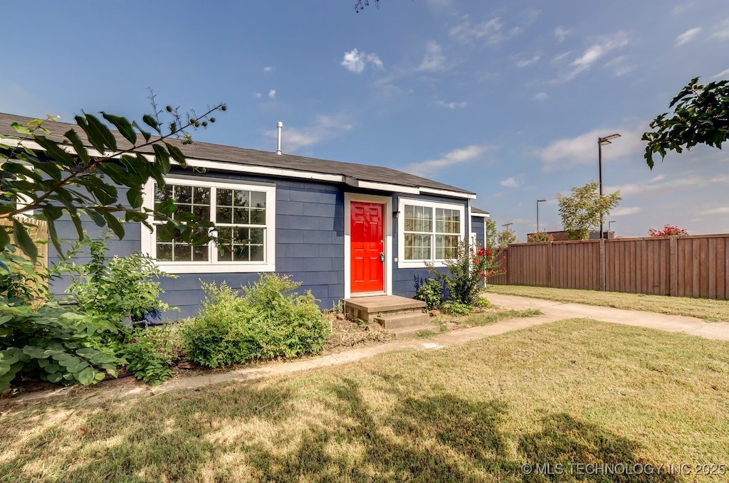
{"type": "Polygon", "coordinates": [[[572,188],[572,195],[557,195],[559,215],[568,240],[587,240],[590,231],[599,229],[605,217],[620,203],[620,192],[600,196],[599,184],[591,181],[572,188]]]}

